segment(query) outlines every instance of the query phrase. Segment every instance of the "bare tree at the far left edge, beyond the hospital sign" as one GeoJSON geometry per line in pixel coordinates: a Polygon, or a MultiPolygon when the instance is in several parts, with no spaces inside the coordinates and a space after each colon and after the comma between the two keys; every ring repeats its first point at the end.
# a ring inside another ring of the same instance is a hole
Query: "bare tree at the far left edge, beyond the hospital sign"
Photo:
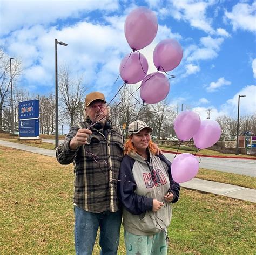
{"type": "MultiPolygon", "coordinates": [[[[12,85],[15,87],[15,83],[18,81],[19,75],[21,75],[22,67],[21,60],[14,59],[12,61],[12,85]]],[[[10,57],[0,48],[0,129],[3,129],[3,108],[10,106],[8,102],[9,95],[11,93],[10,84],[10,57]]]]}

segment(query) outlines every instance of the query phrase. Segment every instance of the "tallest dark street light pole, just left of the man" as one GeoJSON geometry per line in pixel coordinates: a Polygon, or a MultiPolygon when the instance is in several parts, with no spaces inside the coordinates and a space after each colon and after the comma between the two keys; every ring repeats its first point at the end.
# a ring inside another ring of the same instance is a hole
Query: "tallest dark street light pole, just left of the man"
{"type": "Polygon", "coordinates": [[[57,44],[68,46],[63,42],[55,39],[55,148],[59,146],[59,115],[58,115],[58,55],[57,44]]]}

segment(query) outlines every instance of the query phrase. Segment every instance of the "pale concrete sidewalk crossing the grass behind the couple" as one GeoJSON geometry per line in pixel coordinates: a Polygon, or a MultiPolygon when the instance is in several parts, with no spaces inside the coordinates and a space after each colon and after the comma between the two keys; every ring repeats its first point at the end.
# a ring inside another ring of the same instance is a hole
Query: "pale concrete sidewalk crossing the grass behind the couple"
{"type": "MultiPolygon", "coordinates": [[[[31,153],[37,153],[45,156],[56,157],[55,150],[42,149],[34,146],[18,144],[14,142],[7,142],[0,140],[0,146],[11,147],[14,149],[25,150],[31,153]]],[[[180,184],[181,187],[186,189],[198,190],[205,193],[212,193],[235,199],[245,200],[256,203],[256,190],[248,189],[236,185],[230,185],[219,182],[212,182],[193,178],[188,182],[180,184]]]]}

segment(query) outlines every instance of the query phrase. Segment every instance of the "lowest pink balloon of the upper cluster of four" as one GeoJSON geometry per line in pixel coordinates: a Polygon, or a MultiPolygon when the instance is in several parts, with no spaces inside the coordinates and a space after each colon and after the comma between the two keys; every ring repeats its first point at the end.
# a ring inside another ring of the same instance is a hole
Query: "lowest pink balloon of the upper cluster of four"
{"type": "Polygon", "coordinates": [[[169,79],[163,73],[151,73],[142,81],[140,98],[147,104],[156,104],[167,97],[169,90],[169,79]]]}

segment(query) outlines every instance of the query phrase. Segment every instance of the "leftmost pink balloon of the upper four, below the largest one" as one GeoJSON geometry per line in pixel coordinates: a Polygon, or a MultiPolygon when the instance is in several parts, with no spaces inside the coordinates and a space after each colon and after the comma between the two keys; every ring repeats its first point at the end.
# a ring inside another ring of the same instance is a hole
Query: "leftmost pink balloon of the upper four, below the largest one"
{"type": "Polygon", "coordinates": [[[147,59],[142,53],[132,52],[131,56],[127,54],[121,61],[119,71],[123,81],[128,84],[134,84],[141,81],[149,69],[147,59]]]}

